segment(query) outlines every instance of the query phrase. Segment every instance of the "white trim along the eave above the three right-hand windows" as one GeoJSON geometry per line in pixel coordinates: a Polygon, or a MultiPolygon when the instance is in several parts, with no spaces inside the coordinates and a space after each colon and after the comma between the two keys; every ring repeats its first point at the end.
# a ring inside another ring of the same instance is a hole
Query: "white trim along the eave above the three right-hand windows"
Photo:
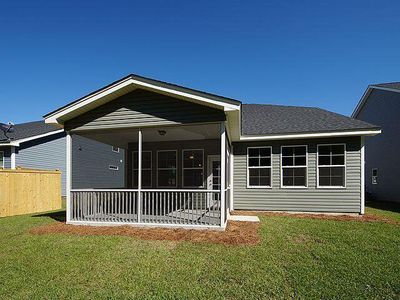
{"type": "Polygon", "coordinates": [[[241,135],[240,141],[266,141],[266,140],[286,140],[286,139],[304,139],[304,138],[323,138],[323,137],[342,137],[342,136],[364,136],[377,135],[382,131],[375,130],[358,130],[358,131],[337,131],[337,132],[315,132],[315,133],[294,133],[294,134],[277,134],[277,135],[259,135],[246,136],[241,135]]]}

